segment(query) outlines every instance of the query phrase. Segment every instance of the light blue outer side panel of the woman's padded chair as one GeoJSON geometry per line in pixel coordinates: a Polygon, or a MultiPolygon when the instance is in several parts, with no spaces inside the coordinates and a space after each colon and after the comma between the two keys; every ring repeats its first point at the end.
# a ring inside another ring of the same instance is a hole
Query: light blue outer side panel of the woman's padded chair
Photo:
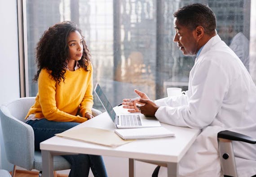
{"type": "Polygon", "coordinates": [[[0,118],[7,160],[27,170],[33,169],[35,153],[33,128],[13,117],[5,105],[0,107],[0,118]]]}

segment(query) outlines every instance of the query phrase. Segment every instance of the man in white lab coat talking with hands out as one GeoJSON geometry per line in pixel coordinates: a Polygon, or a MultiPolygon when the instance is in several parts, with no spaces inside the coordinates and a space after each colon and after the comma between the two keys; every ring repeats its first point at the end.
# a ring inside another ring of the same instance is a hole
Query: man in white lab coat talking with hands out
{"type": "MultiPolygon", "coordinates": [[[[184,55],[196,55],[185,95],[128,103],[129,112],[141,110],[171,125],[202,129],[179,163],[181,177],[220,177],[217,133],[231,130],[256,138],[256,86],[235,53],[216,34],[216,17],[203,4],[191,4],[174,13],[173,41],[184,55]],[[142,104],[136,107],[136,104],[142,104]],[[140,110],[139,110],[140,109],[140,110]]],[[[256,146],[234,142],[239,177],[256,174],[256,146]]],[[[166,168],[161,167],[159,174],[166,168]]],[[[156,170],[157,171],[157,170],[156,170]]],[[[166,173],[166,172],[165,172],[166,173]]]]}

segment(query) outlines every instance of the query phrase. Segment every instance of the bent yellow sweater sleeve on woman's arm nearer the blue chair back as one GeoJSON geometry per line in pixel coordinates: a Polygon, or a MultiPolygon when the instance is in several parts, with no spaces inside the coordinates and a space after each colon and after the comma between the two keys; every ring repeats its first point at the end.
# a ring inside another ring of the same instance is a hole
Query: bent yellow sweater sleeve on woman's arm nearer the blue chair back
{"type": "Polygon", "coordinates": [[[42,69],[38,78],[38,94],[44,117],[49,121],[74,121],[78,123],[87,121],[87,118],[73,116],[57,108],[56,84],[57,82],[52,78],[49,71],[42,69]]]}

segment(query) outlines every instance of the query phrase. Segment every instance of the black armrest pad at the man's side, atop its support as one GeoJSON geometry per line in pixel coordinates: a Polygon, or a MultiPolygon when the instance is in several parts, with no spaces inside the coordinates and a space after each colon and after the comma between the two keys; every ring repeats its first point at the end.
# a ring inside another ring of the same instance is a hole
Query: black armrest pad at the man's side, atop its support
{"type": "Polygon", "coordinates": [[[242,142],[248,142],[251,144],[255,144],[256,143],[256,139],[249,137],[247,135],[244,134],[239,134],[236,132],[232,132],[229,130],[225,130],[225,131],[221,131],[218,133],[218,138],[223,138],[223,139],[229,139],[232,141],[242,141],[242,142]]]}

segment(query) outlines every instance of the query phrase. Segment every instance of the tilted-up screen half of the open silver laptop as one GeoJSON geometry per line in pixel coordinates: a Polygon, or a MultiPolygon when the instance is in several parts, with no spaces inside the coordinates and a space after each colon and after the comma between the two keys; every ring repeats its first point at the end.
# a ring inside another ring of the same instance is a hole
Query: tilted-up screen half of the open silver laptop
{"type": "Polygon", "coordinates": [[[115,122],[115,111],[112,108],[108,99],[106,98],[106,95],[102,92],[102,88],[100,87],[100,85],[98,83],[96,84],[96,87],[95,87],[94,91],[95,91],[96,95],[98,96],[98,98],[100,99],[100,101],[102,102],[103,107],[108,112],[112,121],[115,122]]]}

